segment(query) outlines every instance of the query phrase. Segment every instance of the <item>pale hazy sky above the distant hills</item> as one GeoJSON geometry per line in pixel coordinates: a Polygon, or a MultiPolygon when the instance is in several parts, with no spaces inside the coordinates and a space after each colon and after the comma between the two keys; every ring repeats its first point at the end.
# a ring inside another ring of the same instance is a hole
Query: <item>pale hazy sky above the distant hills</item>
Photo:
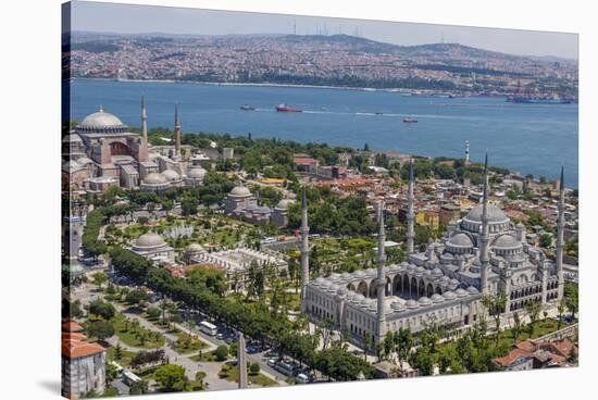
{"type": "Polygon", "coordinates": [[[577,59],[577,35],[74,1],[72,28],[104,33],[347,34],[396,45],[458,42],[521,55],[577,59]]]}

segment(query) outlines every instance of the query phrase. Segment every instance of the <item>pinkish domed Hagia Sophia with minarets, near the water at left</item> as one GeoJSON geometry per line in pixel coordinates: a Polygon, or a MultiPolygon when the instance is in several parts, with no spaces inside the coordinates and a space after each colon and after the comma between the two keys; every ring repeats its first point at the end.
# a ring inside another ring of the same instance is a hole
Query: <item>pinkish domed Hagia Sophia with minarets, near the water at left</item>
{"type": "Polygon", "coordinates": [[[199,186],[205,175],[204,158],[183,152],[178,110],[174,113],[174,146],[165,155],[148,145],[145,101],[141,100],[141,135],[100,105],[63,138],[63,182],[73,190],[103,192],[111,186],[162,192],[170,187],[199,186]]]}

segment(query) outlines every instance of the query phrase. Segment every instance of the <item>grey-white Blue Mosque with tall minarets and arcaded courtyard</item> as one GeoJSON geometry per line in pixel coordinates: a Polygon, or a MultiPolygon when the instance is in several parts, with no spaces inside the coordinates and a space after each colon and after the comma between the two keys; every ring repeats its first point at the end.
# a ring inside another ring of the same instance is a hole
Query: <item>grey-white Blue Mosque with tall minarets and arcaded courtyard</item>
{"type": "Polygon", "coordinates": [[[377,268],[309,279],[309,227],[303,195],[301,223],[301,310],[327,318],[363,343],[369,333],[378,343],[386,332],[425,329],[437,324],[466,328],[479,321],[485,295],[503,295],[503,317],[532,301],[556,304],[563,296],[564,186],[561,171],[557,260],[526,242],[521,224],[488,203],[487,159],[483,203],[450,223],[444,237],[424,252],[413,247],[413,166],[410,168],[407,215],[407,261],[386,265],[384,204],[378,212],[377,268]]]}

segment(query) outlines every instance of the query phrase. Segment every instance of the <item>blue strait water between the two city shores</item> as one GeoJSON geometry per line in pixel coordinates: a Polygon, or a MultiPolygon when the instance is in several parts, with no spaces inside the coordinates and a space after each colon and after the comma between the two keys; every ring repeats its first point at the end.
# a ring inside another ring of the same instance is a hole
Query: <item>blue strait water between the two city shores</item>
{"type": "Polygon", "coordinates": [[[72,118],[104,110],[139,126],[141,95],[149,127],[170,127],[178,103],[183,133],[227,133],[401,153],[471,159],[557,178],[577,187],[577,104],[513,104],[503,98],[407,97],[398,92],[312,87],[231,86],[73,79],[72,118]],[[287,103],[302,113],[275,112],[287,103]],[[242,111],[250,104],[256,111],[242,111]],[[382,113],[382,114],[381,114],[382,113]],[[406,116],[418,118],[407,124],[406,116]]]}

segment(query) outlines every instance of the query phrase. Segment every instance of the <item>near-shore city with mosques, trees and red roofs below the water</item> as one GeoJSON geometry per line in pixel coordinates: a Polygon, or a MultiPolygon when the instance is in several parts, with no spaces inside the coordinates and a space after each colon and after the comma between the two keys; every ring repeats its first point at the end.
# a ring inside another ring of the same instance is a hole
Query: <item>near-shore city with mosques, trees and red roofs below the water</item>
{"type": "Polygon", "coordinates": [[[562,171],[473,163],[468,142],[433,159],[112,111],[62,139],[64,395],[577,364],[562,171]]]}

